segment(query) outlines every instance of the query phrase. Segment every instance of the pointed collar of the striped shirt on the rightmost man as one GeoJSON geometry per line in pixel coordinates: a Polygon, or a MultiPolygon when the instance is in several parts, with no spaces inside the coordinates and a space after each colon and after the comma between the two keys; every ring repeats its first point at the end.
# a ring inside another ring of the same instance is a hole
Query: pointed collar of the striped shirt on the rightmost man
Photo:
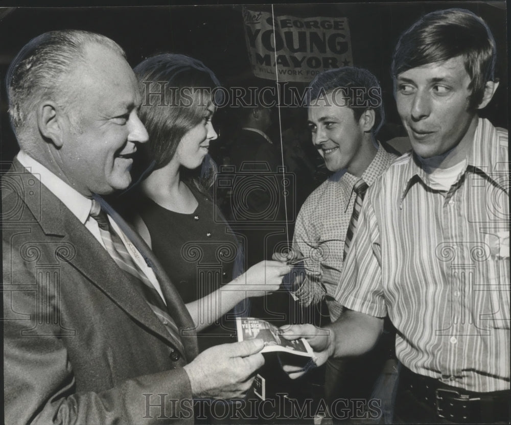
{"type": "MultiPolygon", "coordinates": [[[[494,179],[495,176],[492,173],[492,167],[499,161],[499,146],[497,146],[497,140],[497,130],[492,123],[486,119],[479,118],[474,133],[472,150],[467,156],[467,167],[460,173],[458,183],[464,173],[470,169],[478,174],[484,175],[487,179],[507,192],[507,189],[494,179]]],[[[424,184],[428,185],[426,173],[414,158],[413,151],[403,155],[402,160],[407,162],[406,174],[408,174],[409,177],[405,180],[400,203],[403,202],[410,188],[415,183],[422,181],[424,184]]],[[[456,186],[457,185],[458,184],[456,184],[456,186]]]]}

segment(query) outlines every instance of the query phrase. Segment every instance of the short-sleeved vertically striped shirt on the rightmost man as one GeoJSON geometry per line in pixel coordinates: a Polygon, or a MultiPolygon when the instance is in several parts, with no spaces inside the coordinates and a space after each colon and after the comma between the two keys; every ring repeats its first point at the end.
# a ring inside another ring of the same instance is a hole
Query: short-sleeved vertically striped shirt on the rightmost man
{"type": "Polygon", "coordinates": [[[509,388],[507,131],[479,119],[450,190],[412,153],[369,188],[337,300],[396,328],[398,359],[472,391],[509,388]]]}

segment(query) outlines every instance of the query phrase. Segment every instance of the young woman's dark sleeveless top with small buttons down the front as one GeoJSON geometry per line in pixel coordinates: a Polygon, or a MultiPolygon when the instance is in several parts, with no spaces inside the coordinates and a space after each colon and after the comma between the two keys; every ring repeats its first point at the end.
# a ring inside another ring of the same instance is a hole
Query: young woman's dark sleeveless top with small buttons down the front
{"type": "MultiPolygon", "coordinates": [[[[146,198],[139,213],[151,235],[152,250],[177,288],[184,303],[195,301],[233,280],[238,241],[220,210],[204,194],[189,186],[198,206],[181,214],[146,198]]],[[[236,325],[230,312],[197,337],[199,349],[236,342],[236,325]],[[229,317],[229,320],[227,320],[229,317]]],[[[200,310],[199,320],[211,322],[212,312],[200,310]]]]}

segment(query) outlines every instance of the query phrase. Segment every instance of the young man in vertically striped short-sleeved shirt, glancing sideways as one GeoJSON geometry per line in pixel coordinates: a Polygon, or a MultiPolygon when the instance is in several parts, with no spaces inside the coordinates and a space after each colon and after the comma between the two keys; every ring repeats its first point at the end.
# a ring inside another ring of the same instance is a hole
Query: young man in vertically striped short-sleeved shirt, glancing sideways
{"type": "Polygon", "coordinates": [[[336,294],[350,311],[284,334],[307,335],[321,364],[373,347],[388,313],[403,423],[509,422],[507,131],[477,114],[498,86],[495,52],[461,9],[401,36],[392,75],[413,151],[365,197],[336,294]]]}

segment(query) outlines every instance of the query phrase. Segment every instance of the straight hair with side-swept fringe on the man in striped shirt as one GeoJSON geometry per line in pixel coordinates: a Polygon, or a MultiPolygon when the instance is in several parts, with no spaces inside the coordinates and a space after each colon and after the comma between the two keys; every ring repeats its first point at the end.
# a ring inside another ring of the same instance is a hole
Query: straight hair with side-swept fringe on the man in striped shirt
{"type": "Polygon", "coordinates": [[[471,109],[477,108],[487,81],[494,81],[497,58],[495,40],[486,23],[465,9],[437,10],[424,15],[399,38],[392,57],[391,73],[444,62],[462,56],[471,78],[471,109]]]}

